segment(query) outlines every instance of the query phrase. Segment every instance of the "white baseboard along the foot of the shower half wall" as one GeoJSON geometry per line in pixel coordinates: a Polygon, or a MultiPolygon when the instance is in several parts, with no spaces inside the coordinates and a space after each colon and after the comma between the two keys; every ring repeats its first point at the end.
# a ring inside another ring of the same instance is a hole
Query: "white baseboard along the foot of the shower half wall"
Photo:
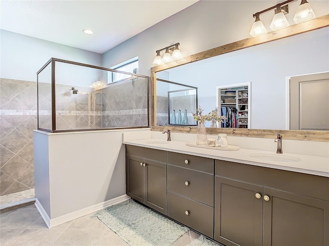
{"type": "MultiPolygon", "coordinates": [[[[120,202],[125,201],[125,200],[129,200],[129,199],[130,199],[130,197],[124,194],[122,196],[113,198],[111,200],[103,201],[103,202],[100,202],[100,203],[95,204],[93,206],[90,206],[90,207],[87,207],[87,208],[84,208],[84,209],[80,209],[78,211],[71,212],[69,214],[65,214],[65,215],[59,216],[57,218],[52,218],[52,219],[49,218],[46,211],[43,209],[40,202],[38,201],[38,198],[35,199],[35,207],[38,209],[38,211],[41,214],[43,220],[45,221],[47,227],[48,228],[53,228],[53,227],[58,226],[59,224],[63,224],[67,221],[71,221],[73,219],[80,218],[82,216],[94,213],[98,210],[104,209],[108,206],[112,206],[114,204],[120,203],[120,202]]],[[[50,208],[50,210],[51,210],[51,208],[50,208]]]]}

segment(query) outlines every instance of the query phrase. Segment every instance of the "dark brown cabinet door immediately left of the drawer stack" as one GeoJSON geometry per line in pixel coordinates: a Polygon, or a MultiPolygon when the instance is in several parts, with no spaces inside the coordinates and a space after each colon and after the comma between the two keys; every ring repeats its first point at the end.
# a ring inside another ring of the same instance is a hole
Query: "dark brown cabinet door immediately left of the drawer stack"
{"type": "Polygon", "coordinates": [[[145,164],[145,204],[167,215],[167,165],[151,160],[145,160],[145,164]]]}

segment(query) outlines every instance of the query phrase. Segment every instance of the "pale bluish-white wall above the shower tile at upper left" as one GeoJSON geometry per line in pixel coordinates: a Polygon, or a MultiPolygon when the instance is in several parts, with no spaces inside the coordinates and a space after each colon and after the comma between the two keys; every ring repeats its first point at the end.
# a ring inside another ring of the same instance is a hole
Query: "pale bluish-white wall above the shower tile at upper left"
{"type": "MultiPolygon", "coordinates": [[[[36,72],[51,57],[101,66],[101,54],[95,52],[5,30],[0,30],[0,38],[0,77],[2,78],[36,81],[36,72]]],[[[70,68],[67,68],[63,73],[71,74],[70,68]]],[[[81,86],[85,85],[81,84],[81,86]]]]}

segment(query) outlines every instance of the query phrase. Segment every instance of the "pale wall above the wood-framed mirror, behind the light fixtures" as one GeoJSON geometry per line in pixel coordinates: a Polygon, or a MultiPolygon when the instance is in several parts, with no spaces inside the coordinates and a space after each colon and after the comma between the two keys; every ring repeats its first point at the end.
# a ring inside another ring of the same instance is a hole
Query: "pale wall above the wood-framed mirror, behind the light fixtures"
{"type": "MultiPolygon", "coordinates": [[[[280,2],[199,1],[105,52],[102,66],[111,67],[138,56],[139,73],[150,75],[156,50],[179,42],[182,55],[188,56],[248,38],[254,22],[252,14],[280,2]]],[[[329,13],[329,1],[310,0],[309,3],[317,17],[329,13]]],[[[295,24],[293,17],[299,4],[300,1],[289,4],[286,17],[291,25],[295,24]]],[[[267,30],[270,30],[273,12],[261,15],[267,30]]]]}

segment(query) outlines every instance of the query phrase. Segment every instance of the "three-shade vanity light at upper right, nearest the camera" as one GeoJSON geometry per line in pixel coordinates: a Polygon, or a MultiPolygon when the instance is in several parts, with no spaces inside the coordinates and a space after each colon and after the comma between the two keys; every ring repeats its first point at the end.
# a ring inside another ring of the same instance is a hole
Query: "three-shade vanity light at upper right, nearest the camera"
{"type": "MultiPolygon", "coordinates": [[[[264,24],[262,23],[262,21],[260,20],[259,16],[273,9],[275,9],[275,15],[272,18],[270,28],[273,31],[277,31],[282,28],[288,27],[289,23],[287,18],[285,17],[285,14],[288,13],[288,4],[295,1],[296,0],[288,0],[253,14],[252,16],[255,17],[255,22],[252,24],[249,34],[252,37],[257,37],[267,33],[267,30],[264,24]]],[[[302,0],[301,4],[297,8],[294,21],[298,24],[314,18],[315,18],[315,14],[312,8],[310,7],[309,3],[307,2],[307,0],[302,0]]]]}

